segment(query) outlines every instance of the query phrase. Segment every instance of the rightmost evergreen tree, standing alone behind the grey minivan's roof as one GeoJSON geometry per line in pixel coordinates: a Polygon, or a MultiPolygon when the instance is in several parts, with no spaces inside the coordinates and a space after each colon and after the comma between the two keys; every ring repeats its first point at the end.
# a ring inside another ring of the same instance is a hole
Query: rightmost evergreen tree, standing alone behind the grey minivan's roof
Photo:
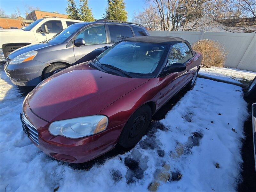
{"type": "Polygon", "coordinates": [[[105,19],[127,21],[127,12],[123,0],[108,0],[108,7],[103,16],[105,19]]]}

